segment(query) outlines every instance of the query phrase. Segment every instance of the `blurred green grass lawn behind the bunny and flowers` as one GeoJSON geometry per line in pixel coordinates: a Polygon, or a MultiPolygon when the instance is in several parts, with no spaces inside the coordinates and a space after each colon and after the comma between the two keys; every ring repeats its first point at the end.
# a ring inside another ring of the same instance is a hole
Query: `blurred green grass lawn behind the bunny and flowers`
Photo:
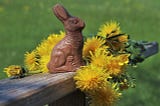
{"type": "MultiPolygon", "coordinates": [[[[0,0],[0,79],[6,77],[4,67],[23,65],[26,51],[63,30],[52,13],[56,3],[85,21],[84,36],[96,34],[101,24],[116,20],[131,39],[160,43],[159,0],[0,0]]],[[[131,70],[136,88],[124,91],[117,106],[159,106],[159,59],[158,53],[131,70]]]]}

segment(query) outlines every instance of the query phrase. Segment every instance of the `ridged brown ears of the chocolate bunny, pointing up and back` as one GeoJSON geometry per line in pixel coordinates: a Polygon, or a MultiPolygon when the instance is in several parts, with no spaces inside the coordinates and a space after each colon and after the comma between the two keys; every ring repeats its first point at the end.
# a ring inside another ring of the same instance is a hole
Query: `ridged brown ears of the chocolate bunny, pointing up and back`
{"type": "Polygon", "coordinates": [[[53,12],[55,16],[62,22],[71,17],[71,15],[67,12],[67,10],[60,4],[56,4],[53,7],[53,12]]]}

